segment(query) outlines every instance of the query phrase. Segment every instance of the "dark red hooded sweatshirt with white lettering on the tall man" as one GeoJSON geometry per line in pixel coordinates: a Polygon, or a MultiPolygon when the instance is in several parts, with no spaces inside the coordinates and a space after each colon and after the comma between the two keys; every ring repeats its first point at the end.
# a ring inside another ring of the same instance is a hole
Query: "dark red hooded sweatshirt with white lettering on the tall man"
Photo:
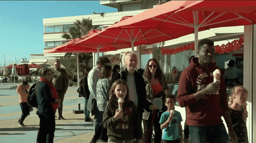
{"type": "Polygon", "coordinates": [[[198,63],[198,58],[193,58],[189,67],[181,74],[178,102],[181,107],[187,106],[187,125],[213,126],[221,124],[221,116],[228,110],[227,89],[223,74],[220,76],[220,89],[196,100],[194,93],[204,89],[213,82],[213,72],[219,69],[212,61],[209,66],[203,67],[198,63]]]}

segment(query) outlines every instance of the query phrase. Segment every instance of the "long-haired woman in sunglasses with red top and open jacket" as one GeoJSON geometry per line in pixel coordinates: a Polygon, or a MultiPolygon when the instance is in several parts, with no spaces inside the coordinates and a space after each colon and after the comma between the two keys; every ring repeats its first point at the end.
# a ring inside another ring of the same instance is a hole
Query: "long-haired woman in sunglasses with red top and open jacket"
{"type": "Polygon", "coordinates": [[[157,107],[157,109],[152,112],[145,110],[143,113],[143,142],[151,142],[154,125],[155,143],[160,143],[162,130],[159,121],[161,114],[166,110],[164,109],[164,97],[168,94],[168,86],[165,76],[156,59],[150,59],[148,61],[143,77],[146,83],[147,100],[157,107]]]}

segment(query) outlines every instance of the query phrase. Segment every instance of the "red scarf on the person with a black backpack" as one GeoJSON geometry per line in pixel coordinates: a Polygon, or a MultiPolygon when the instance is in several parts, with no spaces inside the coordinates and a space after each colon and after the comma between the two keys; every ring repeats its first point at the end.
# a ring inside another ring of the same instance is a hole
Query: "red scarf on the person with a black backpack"
{"type": "MultiPolygon", "coordinates": [[[[46,80],[45,78],[40,78],[39,80],[43,81],[44,83],[46,83],[49,86],[50,90],[52,91],[52,98],[54,98],[54,99],[59,98],[56,88],[53,86],[53,84],[49,80],[46,80]]],[[[59,104],[58,104],[58,102],[51,102],[51,105],[52,105],[53,111],[55,113],[56,110],[58,109],[59,104]]]]}

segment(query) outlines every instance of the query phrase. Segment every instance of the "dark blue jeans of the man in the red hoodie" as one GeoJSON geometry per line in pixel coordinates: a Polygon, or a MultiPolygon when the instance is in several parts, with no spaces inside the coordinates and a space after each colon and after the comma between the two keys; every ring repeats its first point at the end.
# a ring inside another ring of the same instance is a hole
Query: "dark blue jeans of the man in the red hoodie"
{"type": "Polygon", "coordinates": [[[214,126],[189,126],[191,143],[228,143],[228,134],[223,123],[214,126]]]}

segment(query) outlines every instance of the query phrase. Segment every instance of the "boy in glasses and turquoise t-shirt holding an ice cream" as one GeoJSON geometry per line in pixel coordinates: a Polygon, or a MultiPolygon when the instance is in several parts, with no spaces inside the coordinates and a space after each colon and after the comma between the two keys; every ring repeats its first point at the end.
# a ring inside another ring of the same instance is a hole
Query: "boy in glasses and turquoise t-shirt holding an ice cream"
{"type": "Polygon", "coordinates": [[[160,128],[163,130],[161,143],[182,143],[182,117],[181,113],[174,110],[174,104],[176,100],[173,95],[165,96],[165,105],[167,106],[167,111],[165,111],[160,118],[160,128]],[[170,111],[174,110],[174,114],[170,111]],[[171,114],[171,116],[170,116],[171,114]]]}

